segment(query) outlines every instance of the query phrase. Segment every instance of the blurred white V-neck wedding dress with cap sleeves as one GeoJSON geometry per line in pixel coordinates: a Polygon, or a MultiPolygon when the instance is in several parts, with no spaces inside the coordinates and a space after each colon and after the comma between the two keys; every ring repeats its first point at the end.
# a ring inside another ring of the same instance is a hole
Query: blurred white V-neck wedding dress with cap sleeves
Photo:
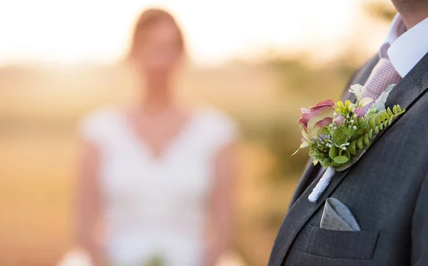
{"type": "Polygon", "coordinates": [[[83,119],[83,138],[101,151],[99,177],[113,266],[200,266],[213,159],[235,138],[235,124],[215,110],[195,113],[161,157],[152,158],[122,112],[83,119]]]}

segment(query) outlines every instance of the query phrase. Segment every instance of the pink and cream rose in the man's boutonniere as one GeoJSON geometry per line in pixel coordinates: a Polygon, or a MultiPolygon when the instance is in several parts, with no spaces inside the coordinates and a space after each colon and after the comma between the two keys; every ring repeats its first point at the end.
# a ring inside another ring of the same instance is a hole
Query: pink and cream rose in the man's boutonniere
{"type": "Polygon", "coordinates": [[[312,139],[317,139],[324,127],[332,123],[335,112],[335,102],[326,100],[308,109],[302,108],[302,118],[297,122],[302,125],[302,145],[300,148],[309,146],[312,139]]]}

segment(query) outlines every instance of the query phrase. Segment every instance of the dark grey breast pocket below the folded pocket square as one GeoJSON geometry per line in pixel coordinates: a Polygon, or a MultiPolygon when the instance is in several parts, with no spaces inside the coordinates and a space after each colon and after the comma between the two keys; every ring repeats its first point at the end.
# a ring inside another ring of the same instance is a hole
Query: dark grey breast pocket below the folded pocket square
{"type": "Polygon", "coordinates": [[[373,257],[379,231],[337,231],[312,225],[302,230],[303,252],[342,259],[370,260],[373,257]]]}

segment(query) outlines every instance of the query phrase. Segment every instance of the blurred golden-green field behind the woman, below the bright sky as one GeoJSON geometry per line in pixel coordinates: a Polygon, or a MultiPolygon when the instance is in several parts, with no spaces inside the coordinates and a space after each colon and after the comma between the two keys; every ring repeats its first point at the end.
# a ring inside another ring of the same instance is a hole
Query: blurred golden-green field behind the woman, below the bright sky
{"type": "MultiPolygon", "coordinates": [[[[351,70],[275,60],[189,70],[180,81],[180,100],[214,105],[241,127],[234,250],[246,265],[266,265],[307,159],[290,156],[300,107],[338,97],[351,70]]],[[[126,80],[117,66],[0,69],[0,266],[55,265],[73,247],[76,124],[137,99],[126,80]]]]}

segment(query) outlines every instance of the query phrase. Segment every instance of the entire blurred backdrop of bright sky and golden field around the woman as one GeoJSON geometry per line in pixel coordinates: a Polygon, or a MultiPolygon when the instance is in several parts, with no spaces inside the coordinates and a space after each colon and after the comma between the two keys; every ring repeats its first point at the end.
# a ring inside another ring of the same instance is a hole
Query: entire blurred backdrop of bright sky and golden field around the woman
{"type": "Polygon", "coordinates": [[[240,126],[238,226],[243,265],[267,264],[307,161],[300,107],[337,100],[377,52],[388,0],[0,1],[0,265],[55,265],[73,243],[76,123],[135,92],[123,58],[136,16],[171,11],[189,62],[180,99],[240,126]]]}

